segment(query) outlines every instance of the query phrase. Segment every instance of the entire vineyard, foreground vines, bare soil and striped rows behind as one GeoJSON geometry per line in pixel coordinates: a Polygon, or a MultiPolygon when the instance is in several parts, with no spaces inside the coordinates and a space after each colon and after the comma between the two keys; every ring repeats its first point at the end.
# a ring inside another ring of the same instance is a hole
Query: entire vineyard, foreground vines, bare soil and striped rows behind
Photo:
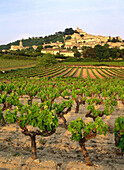
{"type": "Polygon", "coordinates": [[[123,73],[65,66],[1,72],[0,167],[123,169],[123,73]]]}

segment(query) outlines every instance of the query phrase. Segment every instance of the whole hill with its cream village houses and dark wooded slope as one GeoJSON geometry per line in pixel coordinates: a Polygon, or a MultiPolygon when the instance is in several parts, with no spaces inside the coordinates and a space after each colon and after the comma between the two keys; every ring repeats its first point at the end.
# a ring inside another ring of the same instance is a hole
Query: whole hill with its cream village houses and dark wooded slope
{"type": "MultiPolygon", "coordinates": [[[[84,47],[94,48],[96,45],[104,46],[108,44],[109,48],[119,48],[124,49],[124,40],[119,36],[110,37],[110,36],[101,36],[101,35],[92,35],[87,32],[84,32],[82,29],[77,27],[76,30],[72,28],[66,28],[63,32],[55,32],[53,35],[48,35],[45,37],[32,37],[28,39],[17,40],[13,43],[9,43],[7,45],[1,45],[0,51],[4,50],[22,50],[32,48],[36,50],[39,45],[43,45],[45,51],[43,53],[47,53],[49,48],[52,48],[52,53],[56,53],[55,49],[64,48],[67,51],[72,50],[73,48],[77,48],[78,50],[84,50],[84,47]],[[48,50],[46,50],[48,48],[48,50]],[[53,50],[54,49],[54,50],[53,50]]],[[[66,51],[66,53],[67,53],[66,51]]],[[[50,51],[49,51],[50,53],[50,51]]],[[[64,54],[62,52],[62,54],[64,54]]],[[[70,54],[66,54],[70,55],[70,54]]],[[[74,56],[74,54],[71,54],[74,56]]]]}

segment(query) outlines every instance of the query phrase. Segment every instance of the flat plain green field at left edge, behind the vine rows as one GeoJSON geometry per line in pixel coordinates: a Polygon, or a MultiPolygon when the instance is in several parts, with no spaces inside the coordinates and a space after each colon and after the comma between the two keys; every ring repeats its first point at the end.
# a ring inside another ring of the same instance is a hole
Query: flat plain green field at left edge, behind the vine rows
{"type": "Polygon", "coordinates": [[[37,64],[37,60],[15,60],[15,59],[2,59],[0,58],[0,69],[9,70],[20,67],[28,67],[37,64]]]}

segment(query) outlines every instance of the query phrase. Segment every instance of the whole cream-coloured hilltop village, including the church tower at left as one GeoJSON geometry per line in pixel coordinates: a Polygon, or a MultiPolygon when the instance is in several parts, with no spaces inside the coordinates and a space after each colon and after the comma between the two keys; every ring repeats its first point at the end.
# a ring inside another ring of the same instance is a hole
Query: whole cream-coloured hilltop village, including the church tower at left
{"type": "MultiPolygon", "coordinates": [[[[109,45],[109,48],[118,47],[119,49],[124,49],[124,42],[120,37],[105,37],[101,35],[91,35],[86,32],[83,32],[82,29],[77,29],[71,35],[63,36],[64,43],[61,41],[44,43],[43,49],[41,53],[51,53],[51,54],[62,54],[64,56],[74,56],[73,48],[76,47],[79,52],[82,52],[83,47],[92,47],[94,48],[96,45],[104,46],[105,44],[109,45]]],[[[38,46],[32,46],[34,50],[37,49],[38,46]]],[[[11,45],[10,51],[13,50],[22,50],[28,49],[29,47],[23,47],[22,41],[20,41],[19,46],[11,45]]]]}

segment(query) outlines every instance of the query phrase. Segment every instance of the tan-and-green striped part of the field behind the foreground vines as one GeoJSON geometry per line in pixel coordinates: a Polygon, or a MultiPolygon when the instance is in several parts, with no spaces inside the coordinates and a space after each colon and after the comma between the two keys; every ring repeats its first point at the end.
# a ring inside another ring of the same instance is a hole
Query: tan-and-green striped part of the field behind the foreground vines
{"type": "Polygon", "coordinates": [[[124,78],[124,68],[114,67],[67,67],[64,71],[58,71],[52,77],[77,77],[77,78],[124,78]]]}

